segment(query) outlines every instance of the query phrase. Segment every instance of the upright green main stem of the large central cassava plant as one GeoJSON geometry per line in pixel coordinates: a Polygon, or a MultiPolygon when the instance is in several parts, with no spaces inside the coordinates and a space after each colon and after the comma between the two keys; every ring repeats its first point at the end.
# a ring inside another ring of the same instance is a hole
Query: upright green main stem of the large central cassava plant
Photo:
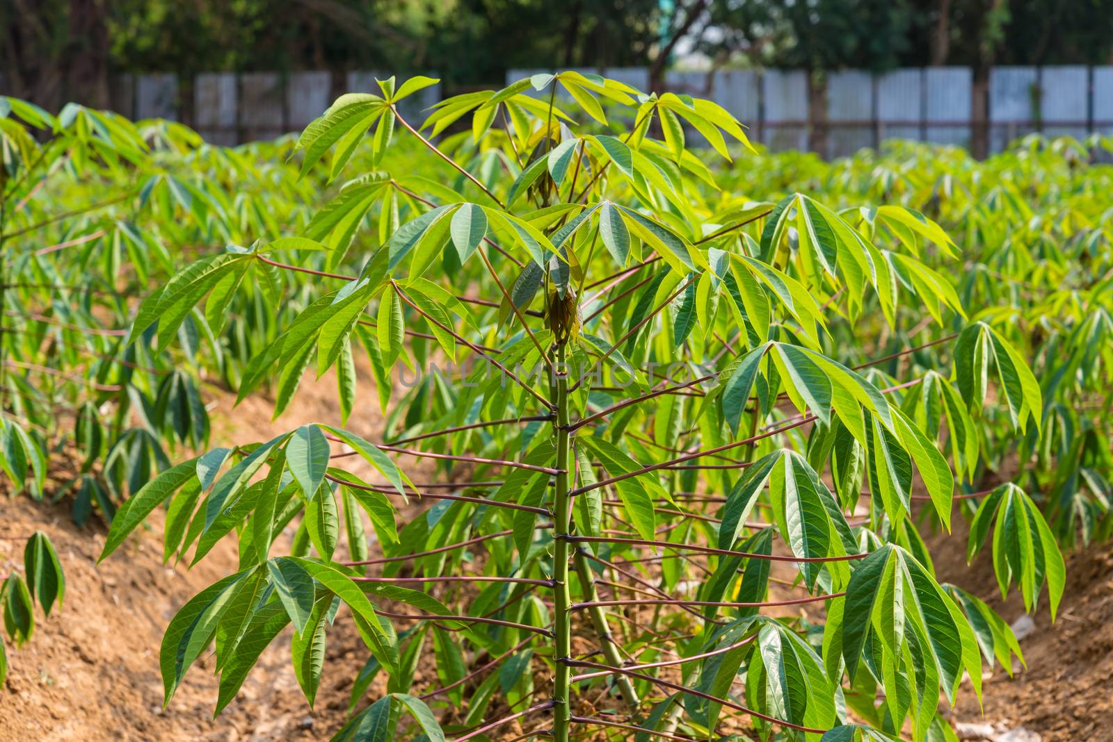
{"type": "Polygon", "coordinates": [[[556,631],[556,672],[553,681],[553,739],[556,742],[568,742],[569,716],[571,715],[571,699],[569,679],[571,669],[565,660],[571,658],[571,600],[568,585],[569,542],[563,537],[569,535],[569,410],[568,410],[568,373],[564,369],[564,345],[556,349],[556,369],[553,374],[556,403],[556,420],[553,423],[556,433],[556,493],[553,500],[553,592],[556,631]]]}

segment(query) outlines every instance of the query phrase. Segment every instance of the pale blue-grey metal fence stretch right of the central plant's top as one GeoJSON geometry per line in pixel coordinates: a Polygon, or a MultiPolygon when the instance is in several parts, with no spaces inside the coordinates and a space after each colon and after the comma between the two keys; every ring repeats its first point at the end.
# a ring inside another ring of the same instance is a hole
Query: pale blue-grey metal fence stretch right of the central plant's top
{"type": "MultiPolygon", "coordinates": [[[[511,70],[506,79],[539,71],[511,70]]],[[[649,88],[644,68],[582,71],[649,88]]],[[[770,149],[816,149],[825,157],[892,138],[963,147],[981,139],[999,151],[1036,131],[1113,134],[1113,67],[997,67],[987,86],[976,86],[963,67],[843,70],[826,76],[819,94],[800,70],[668,72],[663,84],[716,101],[770,149]]]]}

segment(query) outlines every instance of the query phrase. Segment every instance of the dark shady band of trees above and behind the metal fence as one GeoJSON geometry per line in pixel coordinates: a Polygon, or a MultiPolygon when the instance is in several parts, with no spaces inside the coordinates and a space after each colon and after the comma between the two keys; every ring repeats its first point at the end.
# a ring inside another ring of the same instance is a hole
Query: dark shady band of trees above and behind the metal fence
{"type": "Polygon", "coordinates": [[[105,107],[116,72],[440,70],[450,90],[508,69],[716,64],[875,70],[1107,63],[1110,0],[3,0],[3,91],[105,107]]]}

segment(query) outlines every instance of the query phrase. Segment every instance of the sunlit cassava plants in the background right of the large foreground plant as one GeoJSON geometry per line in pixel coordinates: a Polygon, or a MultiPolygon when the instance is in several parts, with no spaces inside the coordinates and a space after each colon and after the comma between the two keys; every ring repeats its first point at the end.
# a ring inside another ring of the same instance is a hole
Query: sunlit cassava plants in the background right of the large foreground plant
{"type": "MultiPolygon", "coordinates": [[[[984,405],[972,405],[983,459],[978,477],[1023,464],[1016,479],[1067,545],[1107,539],[1113,529],[1113,168],[1089,163],[1092,144],[1030,137],[978,162],[958,148],[898,143],[831,164],[787,156],[778,176],[815,179],[836,202],[898,201],[961,235],[968,254],[959,295],[979,308],[975,319],[1031,360],[1045,400],[1042,437],[1007,435],[1012,421],[999,408],[987,405],[983,414],[984,405]]],[[[732,174],[736,188],[752,188],[749,170],[732,174]]],[[[908,342],[899,331],[885,335],[890,351],[908,342]]],[[[930,368],[945,350],[912,360],[930,368]]],[[[860,351],[848,355],[861,358],[860,351]]],[[[984,387],[976,391],[984,398],[984,387]]],[[[974,503],[966,507],[973,512],[974,503]]]]}

